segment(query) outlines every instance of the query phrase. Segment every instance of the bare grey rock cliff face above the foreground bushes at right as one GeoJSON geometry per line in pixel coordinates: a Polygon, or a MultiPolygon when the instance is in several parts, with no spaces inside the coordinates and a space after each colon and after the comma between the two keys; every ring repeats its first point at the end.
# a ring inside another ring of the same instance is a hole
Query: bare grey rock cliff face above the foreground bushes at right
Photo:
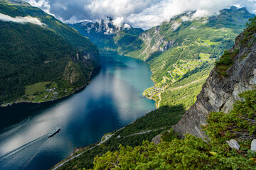
{"type": "Polygon", "coordinates": [[[208,113],[223,111],[228,113],[242,91],[251,90],[256,84],[256,34],[241,33],[235,45],[229,51],[235,52],[233,65],[221,76],[217,66],[210,72],[196,103],[188,109],[183,118],[174,125],[174,130],[181,134],[190,133],[196,137],[206,137],[201,125],[206,125],[208,113]]]}

